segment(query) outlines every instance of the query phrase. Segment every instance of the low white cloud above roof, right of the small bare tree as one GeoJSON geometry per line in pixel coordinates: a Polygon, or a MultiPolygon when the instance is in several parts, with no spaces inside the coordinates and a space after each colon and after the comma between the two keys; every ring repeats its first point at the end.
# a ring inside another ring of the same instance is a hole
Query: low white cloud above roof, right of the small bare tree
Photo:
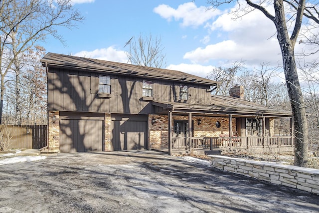
{"type": "Polygon", "coordinates": [[[170,64],[167,66],[167,69],[171,70],[178,70],[182,72],[186,72],[192,75],[197,75],[203,78],[206,78],[207,74],[214,69],[214,66],[208,65],[208,66],[203,66],[200,64],[170,64]]]}

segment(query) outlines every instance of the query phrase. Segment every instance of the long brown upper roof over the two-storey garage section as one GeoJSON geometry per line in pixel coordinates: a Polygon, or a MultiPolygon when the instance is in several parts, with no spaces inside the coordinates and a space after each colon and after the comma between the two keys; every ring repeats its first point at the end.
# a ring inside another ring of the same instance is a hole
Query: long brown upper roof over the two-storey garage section
{"type": "Polygon", "coordinates": [[[185,72],[169,69],[161,69],[147,66],[138,66],[133,64],[105,61],[91,58],[83,58],[57,53],[47,53],[41,59],[42,65],[47,67],[65,67],[85,71],[98,71],[120,75],[134,75],[155,79],[177,80],[181,82],[199,83],[205,85],[219,84],[199,76],[191,75],[185,72]]]}

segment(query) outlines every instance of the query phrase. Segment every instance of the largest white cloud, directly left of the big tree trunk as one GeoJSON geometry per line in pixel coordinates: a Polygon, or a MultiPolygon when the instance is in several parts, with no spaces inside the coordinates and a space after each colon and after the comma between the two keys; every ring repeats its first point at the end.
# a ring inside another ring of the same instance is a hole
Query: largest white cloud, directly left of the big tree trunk
{"type": "MultiPolygon", "coordinates": [[[[184,59],[192,63],[243,60],[248,66],[263,62],[271,62],[275,66],[282,61],[275,25],[260,11],[252,11],[236,20],[224,11],[205,28],[209,29],[211,38],[215,35],[224,40],[210,41],[212,44],[186,52],[184,59]]],[[[201,41],[206,44],[205,39],[201,41]]]]}

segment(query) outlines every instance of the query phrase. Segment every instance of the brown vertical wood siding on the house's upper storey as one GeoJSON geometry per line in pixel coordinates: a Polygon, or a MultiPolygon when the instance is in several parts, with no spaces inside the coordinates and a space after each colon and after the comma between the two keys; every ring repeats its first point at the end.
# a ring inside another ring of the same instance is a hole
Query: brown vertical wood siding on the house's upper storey
{"type": "MultiPolygon", "coordinates": [[[[106,75],[106,74],[104,74],[106,75]]],[[[98,73],[50,68],[48,73],[48,110],[103,113],[151,114],[150,101],[143,101],[143,78],[135,76],[111,77],[111,97],[98,97],[98,73]]],[[[179,99],[178,82],[154,81],[156,101],[179,99]]],[[[192,103],[210,103],[206,87],[187,84],[192,103]]]]}

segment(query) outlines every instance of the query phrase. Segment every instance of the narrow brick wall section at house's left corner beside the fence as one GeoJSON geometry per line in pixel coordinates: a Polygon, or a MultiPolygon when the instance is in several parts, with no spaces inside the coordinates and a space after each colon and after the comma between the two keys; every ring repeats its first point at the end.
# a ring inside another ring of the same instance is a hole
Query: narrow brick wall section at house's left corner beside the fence
{"type": "Polygon", "coordinates": [[[49,111],[48,117],[48,150],[49,152],[59,151],[59,132],[60,132],[60,112],[49,111]],[[55,122],[52,120],[55,116],[55,122]]]}

